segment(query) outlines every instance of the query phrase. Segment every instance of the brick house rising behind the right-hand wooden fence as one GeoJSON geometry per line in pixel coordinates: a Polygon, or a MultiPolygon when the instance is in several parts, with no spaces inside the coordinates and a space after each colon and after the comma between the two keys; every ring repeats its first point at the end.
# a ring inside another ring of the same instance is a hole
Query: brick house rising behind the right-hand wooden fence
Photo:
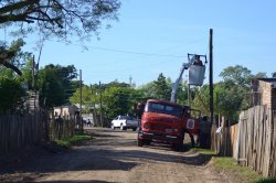
{"type": "Polygon", "coordinates": [[[276,110],[276,78],[252,79],[251,107],[257,105],[267,105],[276,110]]]}

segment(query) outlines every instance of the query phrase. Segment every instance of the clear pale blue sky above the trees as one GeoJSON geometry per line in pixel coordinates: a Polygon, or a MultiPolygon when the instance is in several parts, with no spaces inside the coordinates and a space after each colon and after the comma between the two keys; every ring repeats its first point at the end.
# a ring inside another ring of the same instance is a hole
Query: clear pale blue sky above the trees
{"type": "MultiPolygon", "coordinates": [[[[75,65],[85,84],[156,80],[162,73],[177,79],[187,54],[206,54],[213,29],[214,82],[229,67],[242,65],[253,74],[276,72],[276,1],[265,0],[123,0],[119,20],[99,30],[84,50],[78,43],[46,41],[40,66],[75,65]]],[[[73,40],[73,39],[72,39],[73,40]]],[[[36,57],[35,45],[26,50],[36,57]]],[[[206,65],[205,83],[209,77],[206,65]]],[[[184,73],[187,79],[187,73],[184,73]]]]}

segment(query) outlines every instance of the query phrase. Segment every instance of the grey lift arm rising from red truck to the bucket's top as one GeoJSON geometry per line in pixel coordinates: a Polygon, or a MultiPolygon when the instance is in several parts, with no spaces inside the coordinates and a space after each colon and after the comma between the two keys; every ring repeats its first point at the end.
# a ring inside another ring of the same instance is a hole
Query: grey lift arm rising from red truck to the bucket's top
{"type": "Polygon", "coordinates": [[[197,55],[197,54],[189,54],[188,53],[188,61],[189,62],[182,64],[179,77],[177,78],[176,83],[173,83],[173,85],[172,85],[171,99],[170,99],[171,103],[177,103],[177,90],[178,90],[179,83],[180,83],[180,80],[182,78],[182,75],[183,75],[184,71],[188,69],[191,65],[201,65],[201,66],[203,66],[203,63],[200,60],[201,56],[203,56],[205,58],[205,63],[206,63],[206,55],[197,55]]]}

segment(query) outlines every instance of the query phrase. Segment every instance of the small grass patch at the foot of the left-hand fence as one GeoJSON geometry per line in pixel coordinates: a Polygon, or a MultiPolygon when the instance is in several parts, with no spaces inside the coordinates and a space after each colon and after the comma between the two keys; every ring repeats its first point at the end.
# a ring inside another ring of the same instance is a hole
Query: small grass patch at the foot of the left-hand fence
{"type": "Polygon", "coordinates": [[[81,142],[89,140],[89,139],[92,139],[92,137],[88,134],[77,133],[77,134],[74,134],[70,138],[63,138],[61,140],[56,140],[56,143],[61,147],[70,148],[73,144],[79,144],[81,142]]]}

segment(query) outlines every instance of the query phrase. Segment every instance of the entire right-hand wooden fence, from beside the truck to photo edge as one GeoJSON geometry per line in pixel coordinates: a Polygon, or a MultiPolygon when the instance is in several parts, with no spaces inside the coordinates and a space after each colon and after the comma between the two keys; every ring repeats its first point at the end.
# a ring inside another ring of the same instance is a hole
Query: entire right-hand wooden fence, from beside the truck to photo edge
{"type": "Polygon", "coordinates": [[[240,115],[231,128],[212,129],[212,149],[219,155],[232,155],[241,165],[264,176],[276,177],[276,111],[255,106],[240,115]]]}

